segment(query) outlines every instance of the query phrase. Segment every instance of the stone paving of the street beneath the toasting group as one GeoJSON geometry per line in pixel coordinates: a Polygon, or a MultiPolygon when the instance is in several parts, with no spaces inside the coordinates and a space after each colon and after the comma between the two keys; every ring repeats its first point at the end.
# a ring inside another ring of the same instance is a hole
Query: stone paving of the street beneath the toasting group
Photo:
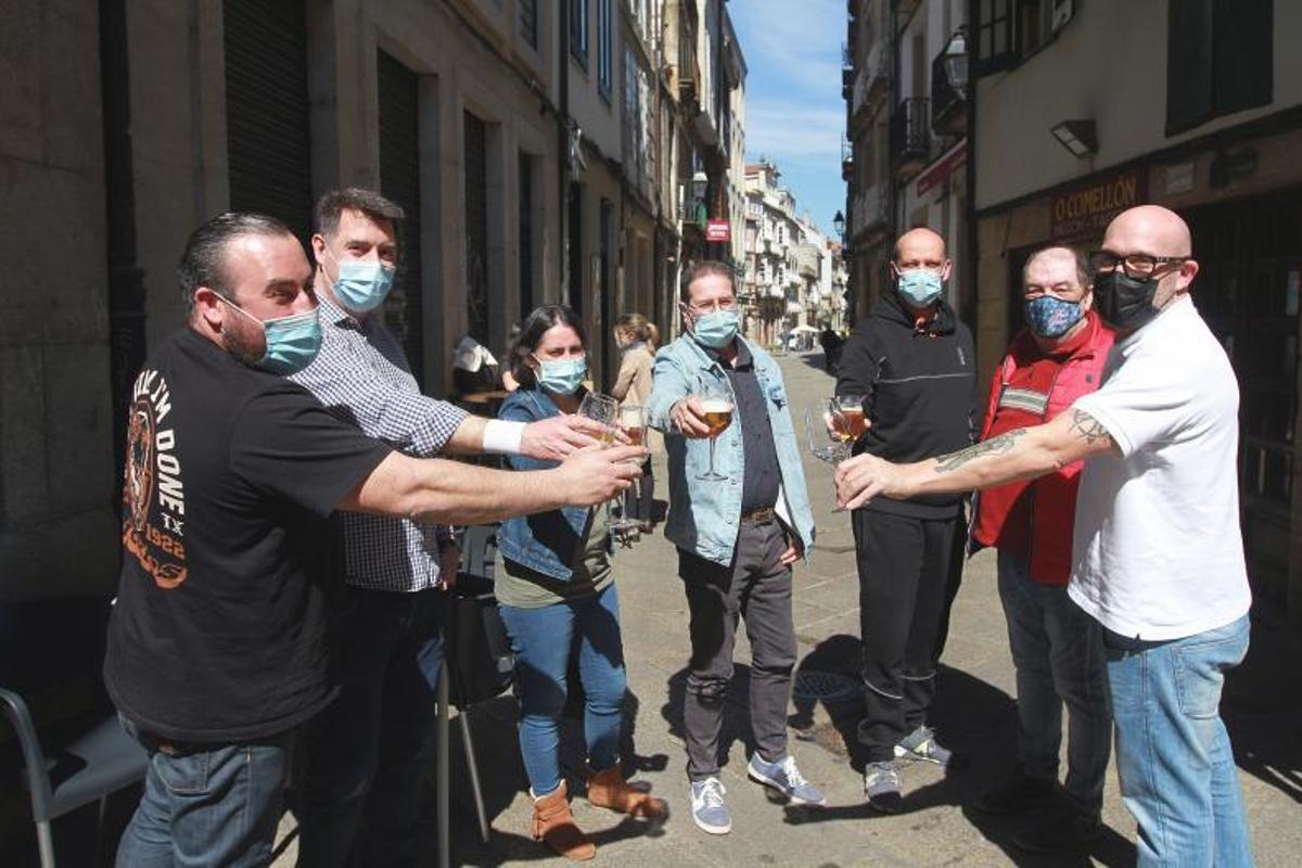
{"type": "MultiPolygon", "coordinates": [[[[831,394],[822,354],[781,360],[797,429],[806,405],[831,394]]],[[[647,825],[574,799],[579,825],[596,845],[595,865],[1108,865],[1134,864],[1134,822],[1109,773],[1107,834],[1087,852],[1030,858],[1010,843],[1034,817],[988,819],[965,804],[1008,769],[1013,756],[1013,669],[995,561],[978,554],[966,567],[943,657],[932,722],[967,761],[945,776],[928,764],[905,772],[907,812],[878,816],[865,807],[862,780],[844,734],[854,731],[853,679],[858,653],[858,591],[849,519],[832,511],[831,468],[806,461],[818,521],[818,547],[796,571],[796,625],[801,669],[792,705],[792,748],[806,777],[829,806],[794,808],[746,780],[745,713],[749,648],[740,636],[725,724],[730,744],[723,781],[733,832],[713,837],[691,822],[681,738],[686,605],[673,547],[655,534],[616,556],[630,701],[624,750],[637,778],[669,800],[671,817],[647,825]]],[[[659,492],[664,492],[663,474],[659,492]]],[[[658,492],[658,493],[659,493],[658,492]]],[[[661,493],[663,496],[663,493],[661,493]]],[[[1266,609],[1264,605],[1259,609],[1266,609]]],[[[742,631],[738,631],[740,634],[742,631]]],[[[1259,865],[1295,865],[1302,854],[1302,673],[1298,642],[1268,610],[1254,625],[1254,648],[1232,677],[1225,716],[1230,724],[1259,865]],[[1289,665],[1292,664],[1292,665],[1289,665]]],[[[527,837],[530,804],[514,733],[516,707],[500,699],[471,712],[477,756],[492,824],[479,843],[465,757],[453,729],[453,863],[466,865],[566,864],[527,837]]],[[[572,793],[579,773],[581,733],[566,733],[572,793]]],[[[424,864],[434,865],[432,811],[423,832],[424,864]]],[[[292,865],[293,816],[281,825],[276,865],[292,865]]]]}

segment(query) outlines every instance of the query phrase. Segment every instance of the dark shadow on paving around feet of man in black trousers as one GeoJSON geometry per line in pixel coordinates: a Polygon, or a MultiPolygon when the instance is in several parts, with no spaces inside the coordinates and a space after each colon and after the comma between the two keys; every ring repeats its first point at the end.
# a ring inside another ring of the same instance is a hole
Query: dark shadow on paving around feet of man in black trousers
{"type": "MultiPolygon", "coordinates": [[[[797,668],[793,691],[796,714],[790,724],[798,738],[846,756],[852,766],[862,773],[863,756],[855,734],[863,707],[859,696],[848,694],[845,687],[852,679],[853,683],[858,682],[858,656],[859,642],[848,635],[829,636],[806,655],[797,668]],[[824,707],[831,718],[831,731],[818,726],[809,729],[818,704],[824,707]]],[[[1013,763],[1017,708],[1003,690],[952,666],[941,665],[936,678],[936,699],[931,707],[930,722],[941,742],[954,751],[954,760],[941,781],[913,790],[909,789],[909,774],[905,770],[906,815],[936,806],[960,806],[973,828],[1000,847],[1017,865],[1056,868],[1096,863],[1120,868],[1134,864],[1134,845],[1111,828],[1105,828],[1104,834],[1087,850],[1032,855],[1018,850],[1013,838],[1035,821],[1035,813],[996,817],[969,808],[967,804],[1005,774],[1013,763]]],[[[786,822],[792,825],[887,819],[868,808],[867,803],[831,808],[789,806],[785,811],[786,822]]]]}

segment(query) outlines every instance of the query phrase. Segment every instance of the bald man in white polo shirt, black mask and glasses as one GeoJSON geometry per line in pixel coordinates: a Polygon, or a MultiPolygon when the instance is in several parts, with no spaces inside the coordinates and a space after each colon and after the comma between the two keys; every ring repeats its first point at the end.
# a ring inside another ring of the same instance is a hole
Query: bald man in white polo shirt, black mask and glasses
{"type": "Polygon", "coordinates": [[[909,465],[861,454],[837,500],[907,498],[1035,479],[1085,459],[1072,601],[1103,626],[1121,798],[1139,868],[1251,865],[1225,675],[1249,644],[1238,502],[1238,380],[1194,307],[1189,226],[1122,211],[1090,255],[1117,334],[1098,392],[1052,420],[909,465]]]}

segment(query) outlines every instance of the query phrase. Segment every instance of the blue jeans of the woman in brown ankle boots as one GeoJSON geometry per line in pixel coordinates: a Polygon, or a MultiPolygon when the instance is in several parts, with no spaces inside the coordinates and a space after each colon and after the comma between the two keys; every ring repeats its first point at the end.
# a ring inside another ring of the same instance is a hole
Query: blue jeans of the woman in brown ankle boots
{"type": "Polygon", "coordinates": [[[581,600],[540,609],[499,605],[516,651],[521,686],[519,752],[535,795],[561,785],[560,717],[565,709],[570,649],[579,644],[578,671],[587,698],[583,735],[594,772],[613,768],[624,711],[624,642],[615,583],[581,600]]]}

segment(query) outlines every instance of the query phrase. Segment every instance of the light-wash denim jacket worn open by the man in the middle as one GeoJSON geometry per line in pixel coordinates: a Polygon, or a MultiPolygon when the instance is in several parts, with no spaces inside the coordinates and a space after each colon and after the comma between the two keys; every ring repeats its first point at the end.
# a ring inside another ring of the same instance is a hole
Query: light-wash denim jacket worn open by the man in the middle
{"type": "MultiPolygon", "coordinates": [[[[764,393],[773,445],[777,448],[777,466],[783,474],[777,514],[799,536],[807,554],[814,548],[814,514],[805,489],[799,440],[792,428],[783,373],[768,353],[749,342],[746,347],[754,358],[755,376],[764,393]]],[[[710,441],[684,437],[669,420],[673,405],[697,394],[703,383],[721,385],[730,392],[728,373],[690,336],[661,347],[656,353],[652,373],[651,424],[665,433],[669,457],[669,517],[664,535],[681,549],[716,563],[730,563],[741,522],[741,420],[733,415],[733,424],[719,435],[715,446],[715,470],[727,476],[727,481],[697,479],[710,467],[710,441]]]]}

